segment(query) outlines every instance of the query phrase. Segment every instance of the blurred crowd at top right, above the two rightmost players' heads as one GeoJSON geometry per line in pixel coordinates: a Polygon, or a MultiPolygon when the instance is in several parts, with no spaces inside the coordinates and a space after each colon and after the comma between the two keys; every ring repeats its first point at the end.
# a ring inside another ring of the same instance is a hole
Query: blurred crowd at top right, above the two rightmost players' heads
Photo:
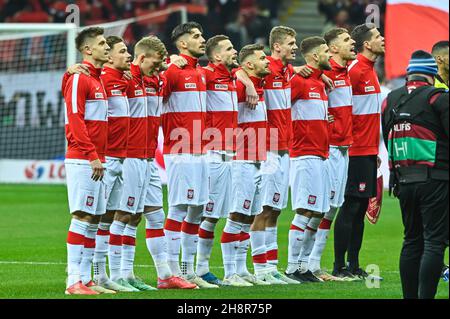
{"type": "Polygon", "coordinates": [[[371,11],[367,6],[377,5],[380,12],[380,32],[384,34],[384,17],[386,0],[319,0],[319,12],[325,16],[324,33],[336,26],[353,29],[356,25],[366,22],[371,11]]]}

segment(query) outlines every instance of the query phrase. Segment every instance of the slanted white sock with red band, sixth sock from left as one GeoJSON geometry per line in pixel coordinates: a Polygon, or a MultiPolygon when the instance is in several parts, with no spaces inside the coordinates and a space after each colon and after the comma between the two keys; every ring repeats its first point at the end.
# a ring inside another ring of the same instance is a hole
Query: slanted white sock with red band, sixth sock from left
{"type": "Polygon", "coordinates": [[[161,209],[144,215],[145,243],[155,263],[158,278],[167,279],[172,276],[167,264],[167,242],[164,235],[164,211],[161,209]]]}

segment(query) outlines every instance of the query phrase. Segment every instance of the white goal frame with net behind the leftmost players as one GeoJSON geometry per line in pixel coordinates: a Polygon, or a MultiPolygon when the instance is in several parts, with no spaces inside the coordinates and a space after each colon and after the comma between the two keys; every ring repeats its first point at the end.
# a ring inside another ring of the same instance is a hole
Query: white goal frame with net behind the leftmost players
{"type": "MultiPolygon", "coordinates": [[[[100,24],[130,52],[143,36],[168,43],[168,28],[187,21],[175,6],[100,24]]],[[[82,27],[83,28],[83,27],[82,27]]],[[[64,99],[61,79],[81,61],[74,24],[0,24],[0,183],[63,183],[64,99]]]]}

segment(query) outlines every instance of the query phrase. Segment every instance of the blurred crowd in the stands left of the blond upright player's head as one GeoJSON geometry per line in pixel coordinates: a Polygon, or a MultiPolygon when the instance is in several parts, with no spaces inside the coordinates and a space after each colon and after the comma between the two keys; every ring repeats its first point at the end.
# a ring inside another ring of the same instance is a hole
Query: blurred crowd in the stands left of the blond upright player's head
{"type": "MultiPolygon", "coordinates": [[[[63,23],[66,7],[76,4],[82,26],[143,16],[175,4],[188,4],[189,18],[205,27],[205,35],[227,34],[238,48],[250,42],[267,44],[270,29],[277,22],[281,1],[270,0],[0,0],[0,22],[63,23]]],[[[167,40],[180,16],[168,17],[161,32],[167,40]],[[167,22],[167,23],[166,23],[167,22]]],[[[131,45],[146,30],[134,28],[128,35],[131,45]]],[[[166,41],[167,42],[167,41],[166,41]]]]}

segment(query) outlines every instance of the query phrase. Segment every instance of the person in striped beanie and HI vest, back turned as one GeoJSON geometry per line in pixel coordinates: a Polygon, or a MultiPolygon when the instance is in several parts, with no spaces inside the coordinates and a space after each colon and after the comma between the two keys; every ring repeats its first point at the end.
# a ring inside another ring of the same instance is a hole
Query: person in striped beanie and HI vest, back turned
{"type": "Polygon", "coordinates": [[[382,127],[405,227],[400,256],[404,298],[434,298],[448,242],[449,94],[425,51],[412,54],[406,86],[383,104],[382,127]]]}

